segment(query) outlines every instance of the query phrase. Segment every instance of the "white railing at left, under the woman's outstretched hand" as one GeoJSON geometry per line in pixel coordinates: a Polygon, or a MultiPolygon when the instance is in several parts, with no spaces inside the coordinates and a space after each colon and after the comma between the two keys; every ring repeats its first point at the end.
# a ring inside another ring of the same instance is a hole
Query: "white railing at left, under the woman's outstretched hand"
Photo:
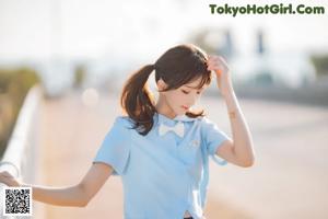
{"type": "MultiPolygon", "coordinates": [[[[0,162],[0,171],[7,171],[22,182],[34,183],[39,173],[37,170],[39,166],[38,122],[40,100],[42,89],[39,85],[35,85],[28,91],[24,100],[8,147],[0,162]]],[[[27,218],[27,216],[3,216],[3,187],[7,187],[7,185],[0,183],[0,218],[27,218]]],[[[35,212],[35,209],[33,209],[33,212],[35,212]]]]}

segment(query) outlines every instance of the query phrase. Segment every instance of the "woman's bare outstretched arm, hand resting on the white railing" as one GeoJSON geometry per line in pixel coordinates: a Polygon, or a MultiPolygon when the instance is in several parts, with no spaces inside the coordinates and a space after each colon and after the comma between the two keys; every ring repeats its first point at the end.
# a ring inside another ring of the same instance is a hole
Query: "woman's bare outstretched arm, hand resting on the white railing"
{"type": "Polygon", "coordinates": [[[112,175],[113,168],[108,164],[94,163],[82,181],[69,187],[47,187],[19,183],[9,173],[0,173],[0,182],[9,186],[32,187],[33,199],[50,205],[85,207],[87,203],[112,175]]]}

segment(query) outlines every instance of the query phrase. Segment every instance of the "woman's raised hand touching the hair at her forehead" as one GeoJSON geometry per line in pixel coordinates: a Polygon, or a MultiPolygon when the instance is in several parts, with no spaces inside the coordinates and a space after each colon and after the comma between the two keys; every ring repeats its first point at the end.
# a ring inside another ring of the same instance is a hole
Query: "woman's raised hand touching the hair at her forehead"
{"type": "Polygon", "coordinates": [[[230,69],[223,57],[209,56],[208,70],[215,72],[218,87],[224,97],[233,92],[230,69]]]}

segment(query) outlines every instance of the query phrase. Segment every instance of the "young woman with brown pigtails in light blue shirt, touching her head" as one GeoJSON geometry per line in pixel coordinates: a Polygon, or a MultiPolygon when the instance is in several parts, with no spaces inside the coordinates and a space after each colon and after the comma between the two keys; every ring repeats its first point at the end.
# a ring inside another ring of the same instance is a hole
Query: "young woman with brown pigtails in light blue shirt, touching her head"
{"type": "Polygon", "coordinates": [[[251,166],[251,136],[222,57],[207,56],[195,45],[178,45],[154,65],[134,72],[122,90],[118,116],[93,164],[80,183],[54,188],[25,185],[9,173],[0,182],[31,186],[33,199],[59,206],[84,207],[110,175],[120,175],[126,219],[204,218],[209,158],[225,165],[251,166]],[[226,103],[233,139],[192,105],[216,76],[226,103]],[[155,73],[159,99],[148,89],[155,73]]]}

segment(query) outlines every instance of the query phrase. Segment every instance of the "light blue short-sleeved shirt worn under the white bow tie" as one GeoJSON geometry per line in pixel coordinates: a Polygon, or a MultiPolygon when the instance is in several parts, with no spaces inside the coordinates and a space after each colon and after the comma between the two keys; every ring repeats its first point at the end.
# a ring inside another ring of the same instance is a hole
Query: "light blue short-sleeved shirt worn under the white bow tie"
{"type": "Polygon", "coordinates": [[[171,119],[154,114],[147,136],[131,129],[129,117],[119,116],[106,135],[93,162],[113,166],[124,185],[125,219],[183,219],[185,211],[195,219],[203,216],[209,183],[209,158],[227,162],[215,154],[229,139],[207,117],[186,115],[171,119]],[[181,138],[174,131],[159,135],[160,124],[183,123],[181,138]]]}

